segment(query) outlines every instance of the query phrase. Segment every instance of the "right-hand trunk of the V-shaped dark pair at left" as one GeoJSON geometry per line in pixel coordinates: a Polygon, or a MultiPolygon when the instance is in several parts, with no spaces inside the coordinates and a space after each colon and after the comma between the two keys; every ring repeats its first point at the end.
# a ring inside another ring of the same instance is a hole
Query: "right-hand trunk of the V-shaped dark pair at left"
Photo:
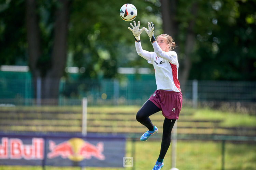
{"type": "Polygon", "coordinates": [[[43,98],[57,99],[59,96],[59,81],[64,74],[67,58],[69,2],[69,0],[59,0],[60,6],[56,11],[52,67],[43,81],[43,98]]]}

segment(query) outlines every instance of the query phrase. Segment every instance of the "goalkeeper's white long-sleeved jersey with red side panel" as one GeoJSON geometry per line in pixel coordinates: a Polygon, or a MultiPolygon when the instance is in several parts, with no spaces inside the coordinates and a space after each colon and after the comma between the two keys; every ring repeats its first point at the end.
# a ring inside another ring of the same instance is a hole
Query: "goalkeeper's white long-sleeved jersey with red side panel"
{"type": "Polygon", "coordinates": [[[178,80],[178,57],[176,52],[165,52],[155,41],[153,44],[154,52],[148,52],[142,49],[141,43],[135,43],[138,55],[153,64],[156,76],[157,90],[172,90],[180,92],[180,82],[178,80]]]}

